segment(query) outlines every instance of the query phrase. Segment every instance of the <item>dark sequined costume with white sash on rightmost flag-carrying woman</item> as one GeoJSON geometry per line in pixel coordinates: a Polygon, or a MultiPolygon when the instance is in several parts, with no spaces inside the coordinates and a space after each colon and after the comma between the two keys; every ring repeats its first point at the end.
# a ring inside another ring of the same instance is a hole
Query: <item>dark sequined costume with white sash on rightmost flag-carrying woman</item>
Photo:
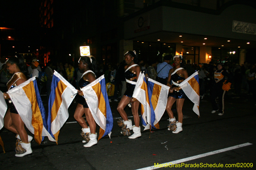
{"type": "MultiPolygon", "coordinates": [[[[178,71],[182,69],[183,68],[180,67],[171,74],[172,88],[177,87],[181,82],[185,80],[185,77],[180,73],[178,73],[178,71]]],[[[172,93],[169,92],[168,96],[174,97],[175,99],[185,99],[186,94],[182,89],[180,89],[179,92],[177,91],[173,91],[172,93]]]]}

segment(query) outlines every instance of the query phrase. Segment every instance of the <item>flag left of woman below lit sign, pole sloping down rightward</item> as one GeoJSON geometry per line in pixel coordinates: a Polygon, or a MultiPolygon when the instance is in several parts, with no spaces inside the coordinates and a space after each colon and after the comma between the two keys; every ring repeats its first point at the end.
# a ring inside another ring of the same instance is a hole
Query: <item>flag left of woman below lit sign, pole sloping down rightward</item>
{"type": "Polygon", "coordinates": [[[53,73],[51,90],[48,102],[47,130],[52,138],[58,141],[60,128],[68,119],[68,107],[74,100],[77,90],[57,71],[53,73]]]}

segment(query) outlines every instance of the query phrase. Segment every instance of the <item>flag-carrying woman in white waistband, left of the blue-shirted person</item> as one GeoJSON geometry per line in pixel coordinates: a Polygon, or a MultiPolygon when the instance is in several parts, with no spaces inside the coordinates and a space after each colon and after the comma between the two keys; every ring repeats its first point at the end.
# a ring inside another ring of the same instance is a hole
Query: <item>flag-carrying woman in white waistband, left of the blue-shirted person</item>
{"type": "Polygon", "coordinates": [[[135,51],[127,51],[124,54],[125,63],[127,64],[124,67],[124,76],[126,80],[126,91],[124,93],[124,96],[120,100],[119,105],[117,106],[117,111],[122,117],[122,120],[120,119],[118,121],[118,125],[122,128],[121,133],[124,136],[129,136],[130,139],[135,139],[137,137],[141,136],[140,133],[140,117],[138,114],[138,109],[140,102],[136,100],[135,98],[132,98],[132,94],[137,82],[137,78],[140,75],[140,66],[137,65],[138,59],[135,51]],[[132,115],[134,118],[135,125],[132,126],[132,120],[129,120],[127,117],[127,114],[124,111],[124,108],[127,106],[127,104],[131,103],[132,105],[132,115]],[[130,130],[133,130],[132,136],[130,133],[130,130]]]}

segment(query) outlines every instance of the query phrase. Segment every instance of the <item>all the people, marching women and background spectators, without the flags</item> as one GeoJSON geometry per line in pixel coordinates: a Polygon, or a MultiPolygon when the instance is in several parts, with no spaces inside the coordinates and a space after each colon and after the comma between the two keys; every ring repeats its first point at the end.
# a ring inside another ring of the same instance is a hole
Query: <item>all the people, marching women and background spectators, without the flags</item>
{"type": "MultiPolygon", "coordinates": [[[[2,57],[4,58],[4,57],[2,57]]],[[[108,100],[112,102],[119,101],[117,111],[122,119],[118,121],[118,125],[122,128],[121,134],[129,136],[130,139],[135,139],[141,136],[140,133],[140,117],[138,113],[140,102],[133,98],[133,91],[135,89],[137,79],[140,72],[145,74],[145,77],[158,81],[163,85],[170,87],[166,112],[169,116],[168,130],[172,133],[179,133],[182,131],[183,113],[182,107],[186,94],[180,88],[179,84],[198,71],[200,98],[203,99],[207,92],[210,92],[210,99],[212,103],[212,113],[218,115],[224,114],[224,97],[225,92],[231,87],[234,87],[235,94],[239,97],[241,95],[241,88],[248,91],[248,95],[253,95],[256,102],[256,81],[255,81],[255,65],[244,63],[242,66],[232,63],[193,63],[189,60],[185,62],[182,55],[165,55],[162,63],[147,63],[143,60],[138,61],[136,51],[127,51],[124,54],[124,61],[119,64],[106,63],[97,64],[93,56],[80,57],[78,67],[74,68],[71,63],[47,63],[47,67],[40,68],[39,62],[36,59],[31,61],[31,65],[26,68],[24,58],[21,55],[10,57],[7,61],[1,58],[0,62],[0,90],[5,99],[10,97],[8,90],[15,88],[28,78],[36,76],[40,79],[40,73],[43,71],[47,74],[47,81],[45,84],[39,84],[41,91],[43,86],[47,89],[47,99],[49,99],[51,92],[51,82],[53,71],[56,70],[62,77],[64,77],[71,85],[79,89],[76,97],[77,107],[74,117],[79,125],[82,127],[81,136],[83,137],[84,147],[91,147],[97,144],[96,123],[92,113],[84,98],[83,92],[80,90],[92,83],[96,78],[104,74],[106,80],[106,88],[108,91],[108,100]],[[217,100],[218,103],[217,104],[217,100]],[[172,106],[176,101],[178,120],[173,115],[172,106]],[[124,108],[131,104],[132,120],[128,119],[124,108]],[[86,123],[83,115],[86,115],[86,123]],[[133,134],[131,135],[131,131],[133,134]]],[[[22,122],[15,106],[10,103],[9,108],[4,117],[4,127],[17,136],[17,157],[22,157],[32,153],[30,142],[33,137],[26,132],[24,122],[22,122]]]]}

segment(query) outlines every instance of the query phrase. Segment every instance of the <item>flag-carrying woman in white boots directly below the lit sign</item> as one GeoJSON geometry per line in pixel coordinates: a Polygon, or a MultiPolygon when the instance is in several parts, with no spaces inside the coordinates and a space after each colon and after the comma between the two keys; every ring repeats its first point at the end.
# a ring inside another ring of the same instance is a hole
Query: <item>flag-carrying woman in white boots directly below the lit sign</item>
{"type": "MultiPolygon", "coordinates": [[[[97,67],[96,60],[92,55],[80,57],[78,63],[78,68],[83,71],[82,78],[78,82],[81,89],[96,80],[95,72],[97,71],[97,67]]],[[[82,126],[81,136],[84,138],[83,143],[87,142],[87,144],[84,144],[84,147],[91,147],[92,145],[97,144],[96,123],[86,100],[84,99],[83,92],[78,90],[77,93],[79,96],[74,117],[80,126],[82,126]],[[83,118],[84,113],[90,127],[87,126],[83,118]]]]}

